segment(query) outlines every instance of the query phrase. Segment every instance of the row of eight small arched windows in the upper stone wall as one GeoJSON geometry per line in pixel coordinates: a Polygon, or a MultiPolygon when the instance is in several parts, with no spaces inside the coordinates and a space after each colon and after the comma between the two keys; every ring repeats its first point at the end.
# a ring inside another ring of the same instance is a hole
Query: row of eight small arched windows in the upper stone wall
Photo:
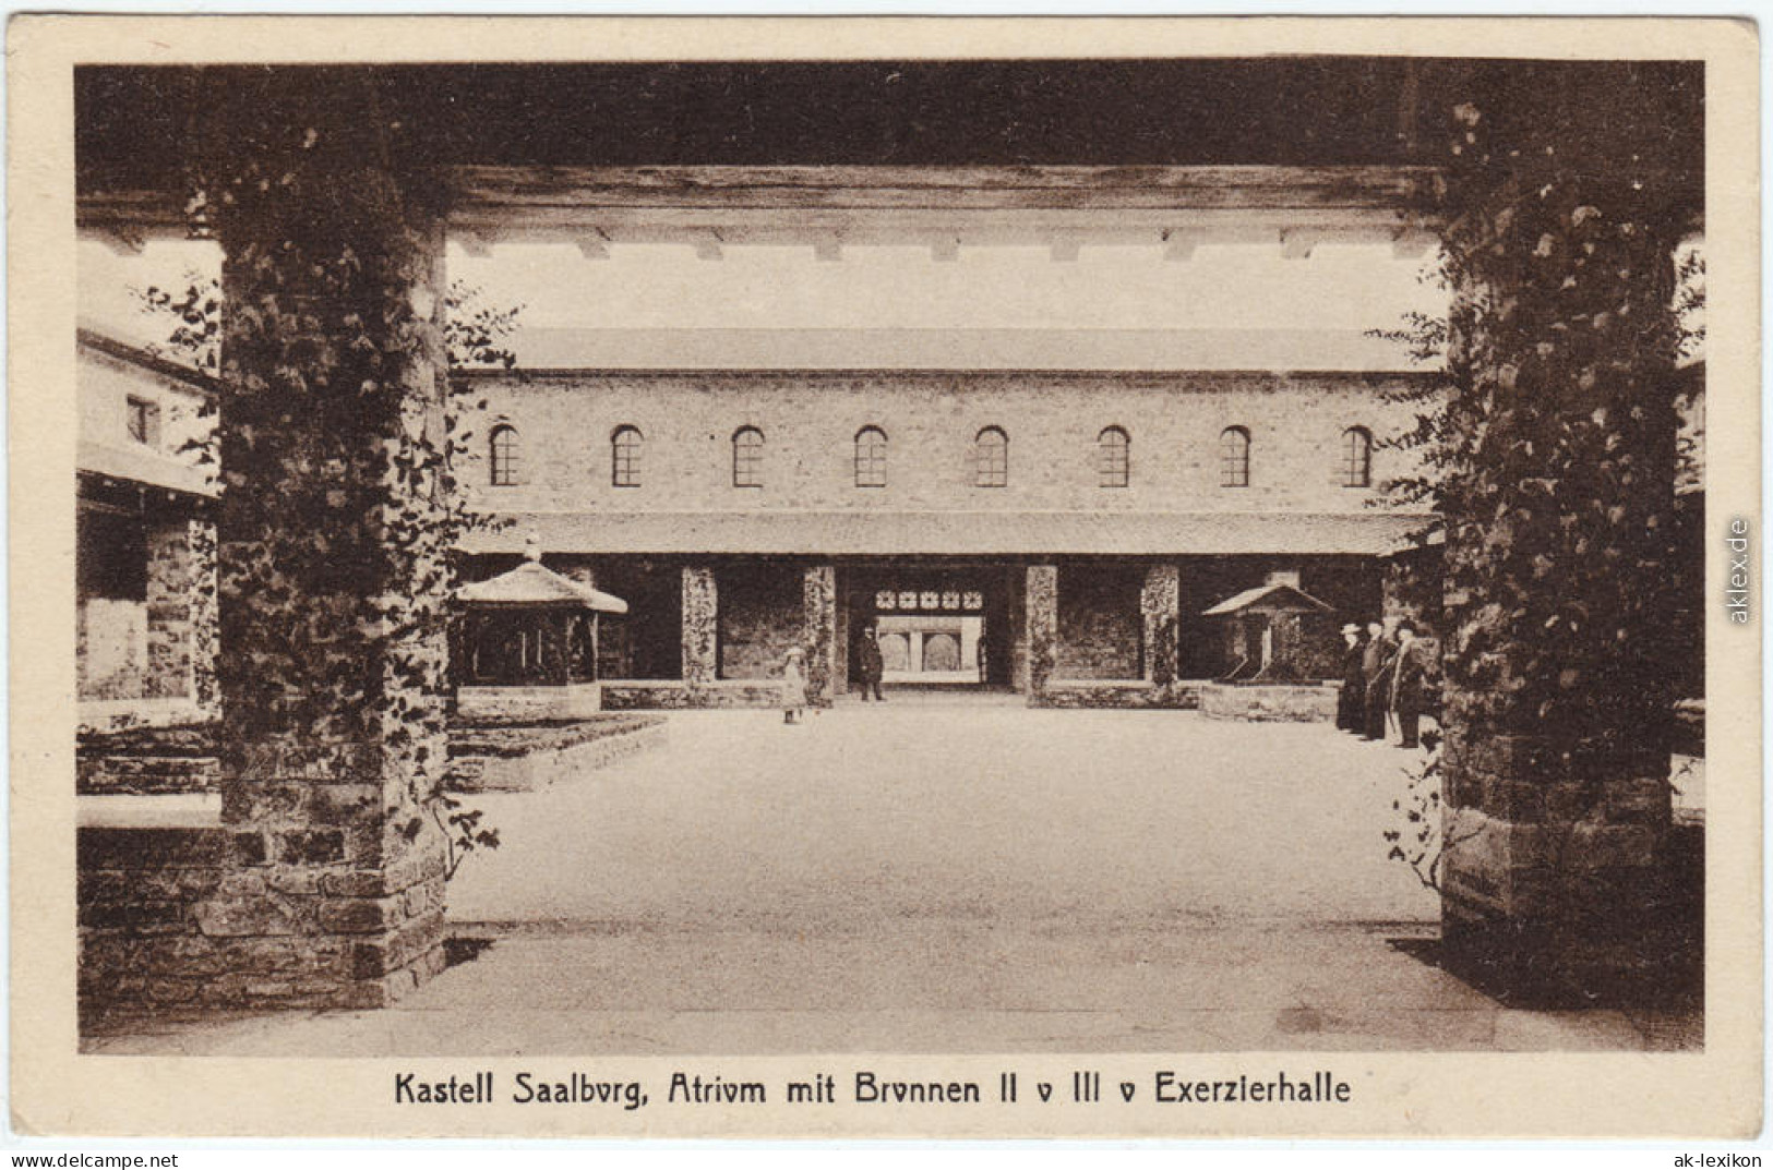
{"type": "MultiPolygon", "coordinates": [[[[615,488],[640,486],[642,436],[635,427],[617,427],[610,433],[610,484],[615,488]]],[[[523,454],[518,448],[518,429],[511,424],[493,427],[491,436],[493,486],[509,488],[519,482],[523,454]]],[[[732,433],[732,486],[762,488],[764,433],[757,427],[739,427],[732,433]]],[[[862,427],[855,441],[856,488],[886,486],[886,433],[879,427],[862,427]]],[[[1133,440],[1122,427],[1106,427],[1096,436],[1096,477],[1103,488],[1126,488],[1133,477],[1133,440]]],[[[973,484],[977,488],[1009,486],[1009,436],[1000,427],[986,427],[973,436],[973,484]]],[[[1250,431],[1225,427],[1220,431],[1220,486],[1250,486],[1250,431]]],[[[1372,433],[1349,427],[1342,433],[1342,486],[1372,486],[1372,433]]]]}

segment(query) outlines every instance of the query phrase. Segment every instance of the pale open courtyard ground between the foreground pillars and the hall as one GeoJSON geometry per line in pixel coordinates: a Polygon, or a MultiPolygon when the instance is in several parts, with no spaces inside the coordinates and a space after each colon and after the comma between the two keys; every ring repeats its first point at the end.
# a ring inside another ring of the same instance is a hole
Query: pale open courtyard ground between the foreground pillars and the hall
{"type": "Polygon", "coordinates": [[[674,713],[663,748],[479,794],[459,961],[392,1009],[209,1014],[89,1051],[1642,1049],[1697,1019],[1528,1012],[1431,961],[1388,862],[1413,759],[1323,723],[1000,697],[674,713]]]}

